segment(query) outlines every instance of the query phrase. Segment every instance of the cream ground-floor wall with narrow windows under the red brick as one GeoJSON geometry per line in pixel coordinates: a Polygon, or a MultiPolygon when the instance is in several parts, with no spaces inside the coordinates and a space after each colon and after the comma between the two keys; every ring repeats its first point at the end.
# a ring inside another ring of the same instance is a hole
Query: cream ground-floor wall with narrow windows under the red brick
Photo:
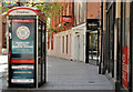
{"type": "Polygon", "coordinates": [[[71,30],[59,32],[57,34],[53,34],[53,50],[48,50],[48,55],[58,57],[58,58],[64,58],[64,59],[71,59],[71,30]],[[68,53],[66,53],[66,35],[68,35],[68,53]],[[63,50],[63,42],[62,37],[64,37],[64,53],[63,50]]]}

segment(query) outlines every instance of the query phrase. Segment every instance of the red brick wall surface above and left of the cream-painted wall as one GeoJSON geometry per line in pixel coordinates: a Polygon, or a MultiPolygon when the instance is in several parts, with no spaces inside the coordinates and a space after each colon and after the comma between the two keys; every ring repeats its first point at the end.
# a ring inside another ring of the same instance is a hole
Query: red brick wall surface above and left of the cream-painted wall
{"type": "MultiPolygon", "coordinates": [[[[68,6],[69,6],[69,16],[72,16],[72,2],[59,2],[59,4],[63,8],[62,10],[59,10],[60,16],[66,16],[68,6]]],[[[52,27],[55,28],[55,27],[59,27],[59,24],[61,24],[61,28],[63,28],[63,29],[62,30],[59,29],[58,31],[52,32],[51,34],[48,34],[48,49],[50,49],[50,35],[51,35],[51,50],[53,50],[53,34],[58,33],[58,32],[61,32],[61,31],[69,30],[69,29],[72,28],[72,25],[69,25],[69,27],[64,25],[63,24],[64,22],[62,22],[61,17],[58,17],[54,13],[52,14],[52,17],[53,17],[52,22],[51,22],[52,27]]]]}

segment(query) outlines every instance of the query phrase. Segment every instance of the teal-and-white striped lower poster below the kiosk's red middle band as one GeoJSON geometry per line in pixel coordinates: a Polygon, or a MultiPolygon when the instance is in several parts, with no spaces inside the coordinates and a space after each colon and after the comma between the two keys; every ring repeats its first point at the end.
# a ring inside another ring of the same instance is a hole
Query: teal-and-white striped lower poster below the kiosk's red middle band
{"type": "Polygon", "coordinates": [[[12,83],[16,84],[31,84],[33,80],[33,65],[29,64],[13,64],[12,65],[12,83]]]}

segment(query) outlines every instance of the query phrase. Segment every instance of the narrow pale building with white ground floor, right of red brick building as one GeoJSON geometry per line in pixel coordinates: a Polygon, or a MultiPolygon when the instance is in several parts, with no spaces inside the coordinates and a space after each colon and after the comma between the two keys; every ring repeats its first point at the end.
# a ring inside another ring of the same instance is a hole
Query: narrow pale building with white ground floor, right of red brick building
{"type": "Polygon", "coordinates": [[[71,59],[85,61],[86,2],[74,2],[74,25],[71,31],[71,59]]]}

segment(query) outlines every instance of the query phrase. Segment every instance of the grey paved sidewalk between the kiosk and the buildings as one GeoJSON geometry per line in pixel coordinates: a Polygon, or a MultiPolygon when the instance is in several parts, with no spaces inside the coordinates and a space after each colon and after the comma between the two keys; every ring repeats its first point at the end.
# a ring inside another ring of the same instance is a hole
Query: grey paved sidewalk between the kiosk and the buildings
{"type": "MultiPolygon", "coordinates": [[[[7,83],[3,82],[3,84],[6,86],[7,83]]],[[[27,91],[28,90],[31,89],[27,89],[27,91]]],[[[35,89],[32,89],[32,91],[33,90],[35,89]]],[[[106,79],[106,76],[98,73],[96,65],[85,64],[84,62],[79,61],[70,61],[65,59],[48,57],[48,82],[41,88],[39,88],[38,91],[39,90],[106,91],[114,89],[111,82],[106,79]]]]}

